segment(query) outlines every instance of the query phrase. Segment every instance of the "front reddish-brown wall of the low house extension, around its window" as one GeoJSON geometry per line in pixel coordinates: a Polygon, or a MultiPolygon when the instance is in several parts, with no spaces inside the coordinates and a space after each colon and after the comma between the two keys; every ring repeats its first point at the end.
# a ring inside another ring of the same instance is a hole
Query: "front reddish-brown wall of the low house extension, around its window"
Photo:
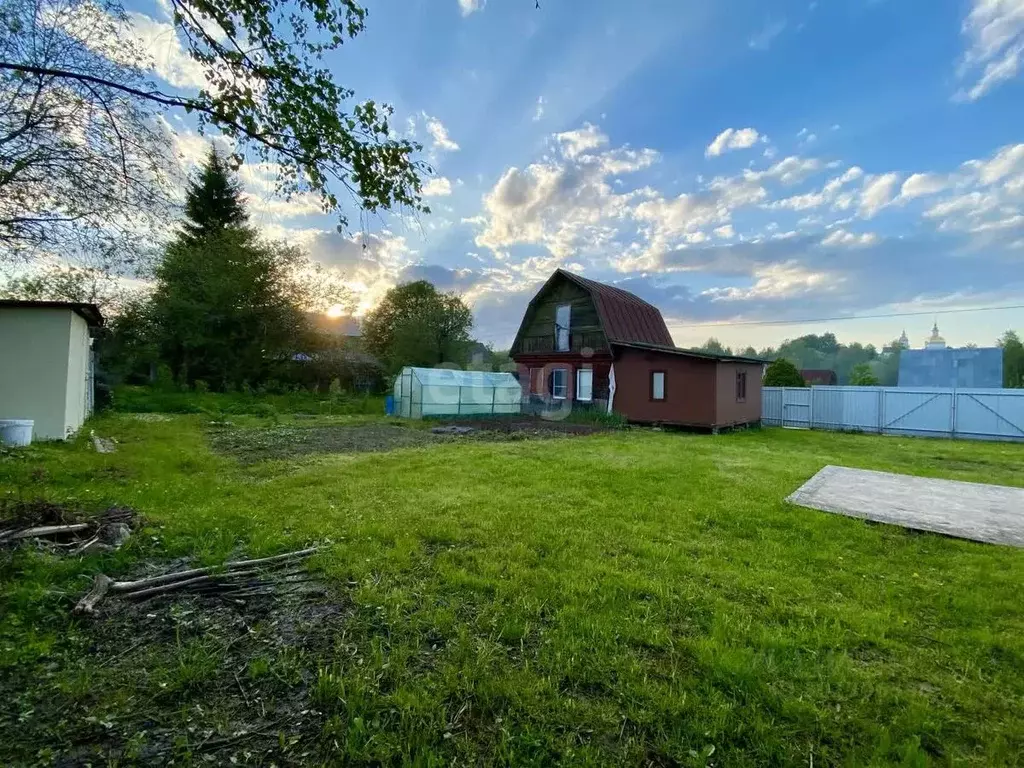
{"type": "MultiPolygon", "coordinates": [[[[638,422],[715,426],[715,360],[628,347],[617,351],[612,406],[616,413],[638,422]],[[666,373],[664,400],[650,399],[652,371],[666,373]]],[[[759,409],[760,403],[759,399],[759,409]]]]}

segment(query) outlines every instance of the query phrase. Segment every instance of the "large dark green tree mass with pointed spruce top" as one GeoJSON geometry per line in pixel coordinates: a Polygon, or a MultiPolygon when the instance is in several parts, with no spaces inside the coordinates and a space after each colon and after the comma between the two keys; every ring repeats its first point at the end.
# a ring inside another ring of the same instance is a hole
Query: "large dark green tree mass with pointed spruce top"
{"type": "Polygon", "coordinates": [[[332,294],[301,251],[246,225],[239,185],[215,153],[189,185],[185,211],[156,270],[148,312],[154,346],[175,379],[255,383],[312,351],[308,310],[346,292],[332,294]]]}

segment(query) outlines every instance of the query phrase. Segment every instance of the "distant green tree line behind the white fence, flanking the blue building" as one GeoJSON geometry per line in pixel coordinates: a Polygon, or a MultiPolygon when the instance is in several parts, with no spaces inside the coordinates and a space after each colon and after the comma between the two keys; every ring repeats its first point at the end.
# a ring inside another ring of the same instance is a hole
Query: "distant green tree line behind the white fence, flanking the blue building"
{"type": "MultiPolygon", "coordinates": [[[[1024,344],[1015,331],[1007,331],[995,342],[1002,348],[1002,376],[1005,387],[1024,386],[1024,344]]],[[[969,344],[976,347],[977,344],[969,344]]],[[[755,349],[730,349],[716,338],[710,338],[698,347],[698,351],[719,352],[726,354],[742,354],[765,359],[783,357],[791,360],[798,369],[824,369],[835,371],[840,384],[849,384],[851,374],[857,366],[867,365],[870,372],[882,386],[896,386],[899,373],[900,353],[906,349],[899,339],[893,339],[882,347],[873,344],[852,342],[843,344],[835,334],[808,334],[796,339],[787,339],[776,347],[755,349]]]]}

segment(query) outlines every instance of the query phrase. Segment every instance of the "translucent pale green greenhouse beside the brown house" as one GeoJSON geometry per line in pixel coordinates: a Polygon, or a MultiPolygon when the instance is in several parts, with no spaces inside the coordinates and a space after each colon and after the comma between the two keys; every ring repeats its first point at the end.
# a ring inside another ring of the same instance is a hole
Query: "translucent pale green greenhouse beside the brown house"
{"type": "Polygon", "coordinates": [[[512,374],[404,368],[394,380],[394,414],[407,419],[518,414],[521,398],[512,374]]]}

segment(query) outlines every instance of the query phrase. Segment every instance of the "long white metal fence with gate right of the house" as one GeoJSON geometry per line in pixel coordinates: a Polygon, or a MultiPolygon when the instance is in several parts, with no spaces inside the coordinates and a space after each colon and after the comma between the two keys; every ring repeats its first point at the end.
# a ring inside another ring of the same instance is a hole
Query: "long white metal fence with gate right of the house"
{"type": "Polygon", "coordinates": [[[981,440],[1024,440],[1024,389],[765,387],[763,424],[981,440]]]}

